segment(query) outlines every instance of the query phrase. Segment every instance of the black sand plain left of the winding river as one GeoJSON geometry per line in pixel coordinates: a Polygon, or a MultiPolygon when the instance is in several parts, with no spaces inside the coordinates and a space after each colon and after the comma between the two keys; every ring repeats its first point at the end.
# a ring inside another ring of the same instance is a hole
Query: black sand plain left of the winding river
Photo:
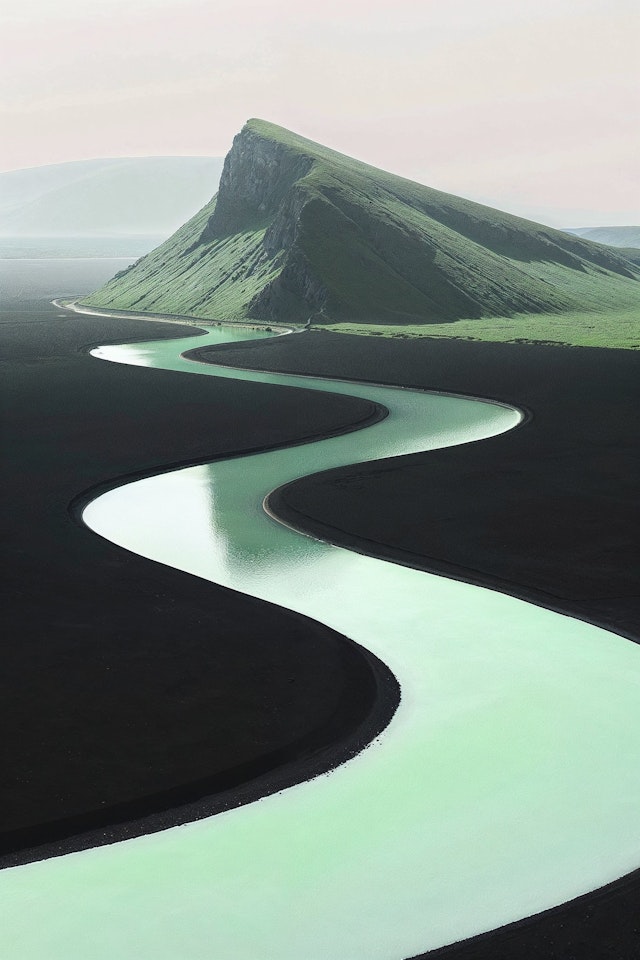
{"type": "Polygon", "coordinates": [[[128,553],[70,510],[105,481],[348,429],[375,405],[99,361],[81,348],[189,329],[59,313],[13,303],[0,325],[5,864],[305,779],[398,700],[388,670],[328,628],[128,553]]]}

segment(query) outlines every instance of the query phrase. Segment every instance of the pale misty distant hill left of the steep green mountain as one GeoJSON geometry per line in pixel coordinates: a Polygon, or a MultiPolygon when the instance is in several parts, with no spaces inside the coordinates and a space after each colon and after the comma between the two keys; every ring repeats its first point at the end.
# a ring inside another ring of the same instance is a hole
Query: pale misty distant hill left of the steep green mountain
{"type": "Polygon", "coordinates": [[[218,188],[222,159],[79,160],[0,173],[0,236],[167,237],[218,188]]]}

